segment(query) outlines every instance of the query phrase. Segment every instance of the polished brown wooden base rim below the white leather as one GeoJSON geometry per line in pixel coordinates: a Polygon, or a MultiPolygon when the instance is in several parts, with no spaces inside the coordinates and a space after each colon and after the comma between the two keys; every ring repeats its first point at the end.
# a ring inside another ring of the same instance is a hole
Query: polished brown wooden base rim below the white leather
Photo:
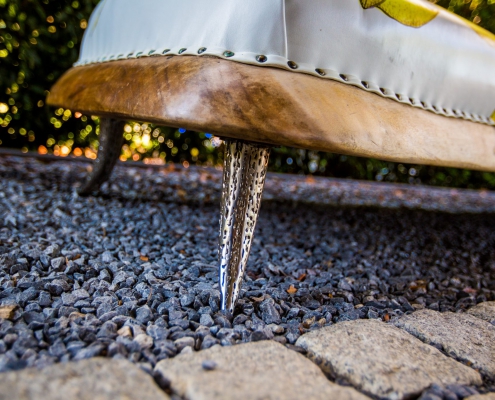
{"type": "Polygon", "coordinates": [[[222,137],[495,171],[493,127],[340,82],[213,57],[148,57],[72,68],[47,101],[222,137]]]}

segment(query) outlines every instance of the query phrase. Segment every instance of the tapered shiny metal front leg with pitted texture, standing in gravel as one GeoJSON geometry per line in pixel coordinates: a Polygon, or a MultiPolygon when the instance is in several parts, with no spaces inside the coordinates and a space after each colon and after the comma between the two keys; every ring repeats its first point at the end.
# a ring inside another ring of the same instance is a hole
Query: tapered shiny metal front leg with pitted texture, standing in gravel
{"type": "Polygon", "coordinates": [[[265,184],[270,148],[225,142],[220,211],[221,309],[233,312],[246,268],[265,184]]]}

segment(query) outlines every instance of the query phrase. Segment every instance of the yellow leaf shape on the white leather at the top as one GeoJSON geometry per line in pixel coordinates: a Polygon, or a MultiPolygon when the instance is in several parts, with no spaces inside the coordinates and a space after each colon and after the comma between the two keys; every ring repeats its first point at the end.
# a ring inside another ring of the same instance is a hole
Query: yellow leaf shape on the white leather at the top
{"type": "Polygon", "coordinates": [[[438,15],[438,10],[421,0],[360,0],[366,9],[377,7],[403,25],[420,28],[438,15]]]}

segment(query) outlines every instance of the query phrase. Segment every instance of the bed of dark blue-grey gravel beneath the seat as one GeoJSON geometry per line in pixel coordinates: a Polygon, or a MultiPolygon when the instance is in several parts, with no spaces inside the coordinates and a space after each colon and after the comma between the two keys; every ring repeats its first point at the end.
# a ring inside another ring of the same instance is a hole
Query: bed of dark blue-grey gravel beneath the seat
{"type": "MultiPolygon", "coordinates": [[[[299,350],[302,333],[340,321],[495,300],[493,214],[272,195],[234,315],[223,315],[219,171],[118,167],[103,195],[80,198],[86,173],[0,157],[0,310],[13,308],[0,319],[0,371],[97,355],[151,371],[181,351],[264,339],[299,350]]],[[[283,182],[294,192],[314,184],[283,182]]]]}

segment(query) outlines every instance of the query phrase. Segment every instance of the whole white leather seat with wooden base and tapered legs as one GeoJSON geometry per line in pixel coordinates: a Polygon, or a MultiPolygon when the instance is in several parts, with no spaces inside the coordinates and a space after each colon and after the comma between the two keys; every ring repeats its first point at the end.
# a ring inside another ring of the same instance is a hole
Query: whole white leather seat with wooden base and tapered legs
{"type": "Polygon", "coordinates": [[[219,278],[232,311],[269,144],[495,171],[494,70],[494,35],[425,0],[103,0],[48,104],[103,117],[83,193],[118,158],[119,120],[228,139],[219,278]]]}

